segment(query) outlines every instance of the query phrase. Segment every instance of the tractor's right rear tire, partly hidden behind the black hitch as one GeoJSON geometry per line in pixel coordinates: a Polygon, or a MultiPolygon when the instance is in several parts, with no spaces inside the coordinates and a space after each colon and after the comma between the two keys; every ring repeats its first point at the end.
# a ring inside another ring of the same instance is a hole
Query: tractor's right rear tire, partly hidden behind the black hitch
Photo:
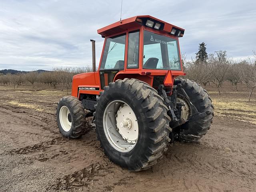
{"type": "Polygon", "coordinates": [[[182,90],[178,91],[177,100],[185,102],[182,112],[184,116],[183,118],[188,120],[188,123],[183,124],[181,127],[182,138],[187,141],[197,141],[208,132],[212,124],[214,117],[212,100],[208,92],[192,80],[177,78],[174,84],[182,84],[182,88],[185,90],[190,102],[196,107],[198,112],[206,112],[208,114],[196,119],[193,118],[194,114],[191,110],[190,102],[186,99],[182,90]]]}

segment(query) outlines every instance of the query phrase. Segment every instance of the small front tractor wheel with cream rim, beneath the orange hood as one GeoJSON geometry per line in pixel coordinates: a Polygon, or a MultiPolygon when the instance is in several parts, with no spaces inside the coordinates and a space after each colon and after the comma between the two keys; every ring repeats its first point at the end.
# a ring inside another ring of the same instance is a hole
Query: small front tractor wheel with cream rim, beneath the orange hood
{"type": "Polygon", "coordinates": [[[85,131],[86,113],[82,102],[73,96],[60,99],[56,109],[60,133],[66,138],[80,138],[85,131]]]}

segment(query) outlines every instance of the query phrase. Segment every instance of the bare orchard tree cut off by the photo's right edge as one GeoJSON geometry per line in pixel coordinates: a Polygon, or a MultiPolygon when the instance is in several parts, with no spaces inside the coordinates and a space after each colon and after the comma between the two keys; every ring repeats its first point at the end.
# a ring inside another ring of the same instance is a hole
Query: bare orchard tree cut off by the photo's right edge
{"type": "Polygon", "coordinates": [[[249,61],[242,61],[239,64],[240,70],[239,75],[242,80],[242,82],[246,85],[247,88],[249,88],[249,96],[248,100],[251,101],[251,96],[254,88],[256,87],[256,65],[255,61],[250,62],[249,61]]]}

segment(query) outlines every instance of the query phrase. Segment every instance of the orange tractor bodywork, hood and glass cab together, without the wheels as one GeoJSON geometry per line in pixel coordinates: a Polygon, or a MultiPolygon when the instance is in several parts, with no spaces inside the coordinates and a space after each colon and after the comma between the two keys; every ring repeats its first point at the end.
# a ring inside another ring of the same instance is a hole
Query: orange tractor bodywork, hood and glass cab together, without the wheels
{"type": "Polygon", "coordinates": [[[105,38],[98,71],[74,76],[73,96],[92,89],[92,94],[99,94],[118,79],[136,78],[157,88],[172,86],[176,76],[185,75],[178,41],[182,28],[152,16],[135,16],[101,28],[98,34],[105,38]]]}

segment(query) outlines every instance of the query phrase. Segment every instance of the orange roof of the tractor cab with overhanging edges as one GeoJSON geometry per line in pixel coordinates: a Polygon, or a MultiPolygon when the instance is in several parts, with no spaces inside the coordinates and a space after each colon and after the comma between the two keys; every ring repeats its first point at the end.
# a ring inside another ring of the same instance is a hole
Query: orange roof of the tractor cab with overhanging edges
{"type": "MultiPolygon", "coordinates": [[[[142,15],[142,16],[134,16],[130,17],[118,22],[115,22],[113,24],[110,24],[106,27],[100,28],[97,30],[98,34],[100,34],[102,37],[109,36],[112,34],[116,34],[118,32],[125,31],[129,28],[139,27],[142,25],[145,25],[147,20],[151,20],[156,23],[160,23],[161,27],[159,30],[162,30],[163,32],[170,33],[172,29],[175,29],[177,31],[176,34],[178,34],[178,31],[180,31],[179,34],[184,34],[184,29],[174,26],[170,23],[164,22],[158,18],[152,17],[150,15],[142,15]]],[[[180,37],[182,37],[180,36],[180,37]]]]}

